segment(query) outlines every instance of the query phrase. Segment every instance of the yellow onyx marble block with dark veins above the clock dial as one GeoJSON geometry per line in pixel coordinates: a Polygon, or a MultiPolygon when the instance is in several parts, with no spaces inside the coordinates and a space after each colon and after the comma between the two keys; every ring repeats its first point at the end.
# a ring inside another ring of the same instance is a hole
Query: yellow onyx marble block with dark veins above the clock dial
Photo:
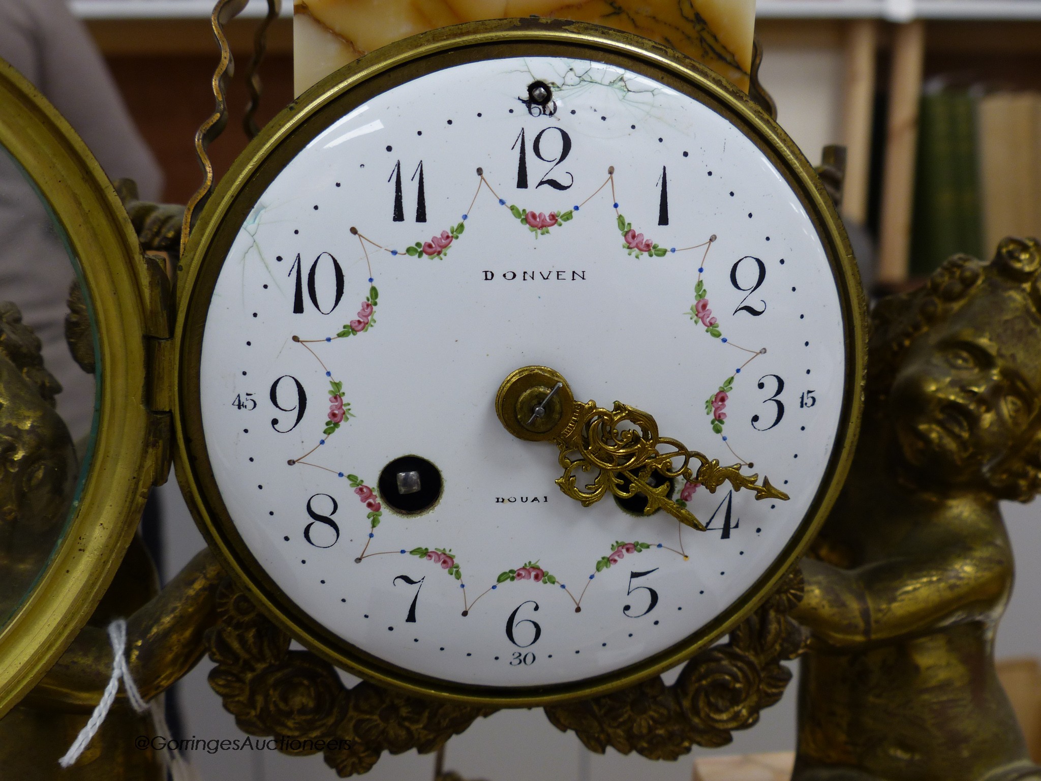
{"type": "Polygon", "coordinates": [[[297,95],[352,59],[408,35],[531,15],[644,35],[748,89],[755,0],[297,0],[297,95]]]}

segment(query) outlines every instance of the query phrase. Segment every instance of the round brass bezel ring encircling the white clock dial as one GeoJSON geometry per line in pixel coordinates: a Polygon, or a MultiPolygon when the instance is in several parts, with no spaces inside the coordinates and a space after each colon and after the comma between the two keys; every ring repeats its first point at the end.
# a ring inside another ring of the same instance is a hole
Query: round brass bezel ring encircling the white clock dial
{"type": "Polygon", "coordinates": [[[856,262],[834,204],[795,144],[747,95],[676,51],[630,33],[557,20],[474,22],[409,37],[345,66],[289,104],[238,157],[200,218],[181,271],[175,332],[175,461],[200,529],[228,572],[297,640],[365,679],[416,695],[500,707],[543,706],[607,694],[690,658],[772,591],[823,523],[853,457],[861,417],[866,316],[856,262]],[[672,86],[728,117],[783,172],[823,238],[840,291],[847,333],[844,400],[822,487],[798,532],[755,585],[702,631],[638,664],[599,678],[512,689],[467,686],[420,676],[349,646],[304,614],[266,576],[235,532],[209,469],[199,403],[199,357],[209,297],[239,225],[266,185],[311,137],[372,95],[421,74],[462,62],[539,54],[610,62],[672,86]]]}

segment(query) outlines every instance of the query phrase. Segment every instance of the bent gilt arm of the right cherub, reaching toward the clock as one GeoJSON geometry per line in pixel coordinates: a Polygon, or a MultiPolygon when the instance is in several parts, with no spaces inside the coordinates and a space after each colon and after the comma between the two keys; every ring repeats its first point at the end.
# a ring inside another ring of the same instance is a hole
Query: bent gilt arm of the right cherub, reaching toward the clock
{"type": "Polygon", "coordinates": [[[839,648],[893,640],[984,616],[1012,582],[1008,549],[966,541],[855,570],[804,559],[806,596],[792,618],[839,648]]]}

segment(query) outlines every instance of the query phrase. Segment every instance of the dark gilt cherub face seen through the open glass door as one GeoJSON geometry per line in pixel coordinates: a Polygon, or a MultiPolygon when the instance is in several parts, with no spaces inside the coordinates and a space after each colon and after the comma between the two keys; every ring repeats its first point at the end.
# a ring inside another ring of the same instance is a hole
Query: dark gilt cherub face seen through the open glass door
{"type": "MultiPolygon", "coordinates": [[[[0,540],[30,553],[69,509],[76,461],[65,422],[5,358],[0,358],[0,540]]],[[[46,551],[50,553],[50,551],[46,551]]]]}

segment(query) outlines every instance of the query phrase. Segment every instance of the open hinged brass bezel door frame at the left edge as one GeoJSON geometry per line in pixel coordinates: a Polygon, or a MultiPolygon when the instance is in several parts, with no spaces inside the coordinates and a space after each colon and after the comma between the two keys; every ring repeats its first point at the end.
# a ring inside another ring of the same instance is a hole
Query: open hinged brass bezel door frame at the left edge
{"type": "MultiPolygon", "coordinates": [[[[68,122],[0,59],[0,147],[32,180],[79,263],[96,333],[96,434],[79,499],[29,596],[0,627],[0,716],[91,616],[156,477],[145,403],[144,259],[101,167],[68,122]]],[[[17,302],[16,302],[17,303],[17,302]]]]}

